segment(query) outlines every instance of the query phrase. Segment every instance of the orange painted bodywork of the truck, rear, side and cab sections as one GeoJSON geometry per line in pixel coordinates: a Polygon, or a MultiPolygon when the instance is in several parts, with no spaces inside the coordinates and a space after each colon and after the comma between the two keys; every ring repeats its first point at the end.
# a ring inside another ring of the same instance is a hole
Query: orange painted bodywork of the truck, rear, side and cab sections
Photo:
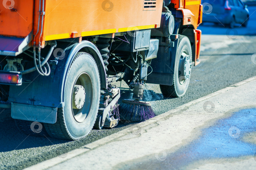
{"type": "MultiPolygon", "coordinates": [[[[35,43],[41,48],[49,40],[158,28],[162,5],[156,4],[163,3],[163,0],[5,1],[6,6],[0,5],[0,35],[27,37],[33,34],[34,41],[30,45],[35,43]],[[45,13],[40,12],[40,2],[45,13]],[[148,2],[153,8],[145,8],[148,2]],[[41,14],[43,25],[38,20],[41,14]]],[[[201,0],[171,0],[171,3],[182,11],[183,25],[193,25],[195,42],[200,44],[201,32],[196,28],[202,22],[201,0]]],[[[200,45],[196,45],[196,58],[199,58],[199,48],[200,45]]]]}

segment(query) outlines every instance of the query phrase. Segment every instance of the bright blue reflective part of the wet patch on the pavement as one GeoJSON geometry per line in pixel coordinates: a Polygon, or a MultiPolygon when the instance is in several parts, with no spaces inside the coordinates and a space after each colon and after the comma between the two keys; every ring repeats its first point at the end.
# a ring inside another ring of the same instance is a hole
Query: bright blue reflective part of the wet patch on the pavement
{"type": "Polygon", "coordinates": [[[206,128],[188,148],[195,158],[225,158],[254,155],[256,145],[243,141],[243,136],[256,131],[256,109],[235,112],[229,118],[206,128]]]}

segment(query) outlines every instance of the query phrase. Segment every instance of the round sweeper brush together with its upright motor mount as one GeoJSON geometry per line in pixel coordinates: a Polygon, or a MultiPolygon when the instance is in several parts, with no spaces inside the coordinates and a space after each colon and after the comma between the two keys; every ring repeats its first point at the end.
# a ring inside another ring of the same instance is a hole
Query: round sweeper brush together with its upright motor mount
{"type": "Polygon", "coordinates": [[[136,74],[129,84],[133,99],[124,99],[119,105],[120,118],[131,122],[143,122],[155,117],[155,112],[149,102],[141,101],[143,97],[144,81],[147,79],[147,64],[141,62],[139,74],[136,74]]]}

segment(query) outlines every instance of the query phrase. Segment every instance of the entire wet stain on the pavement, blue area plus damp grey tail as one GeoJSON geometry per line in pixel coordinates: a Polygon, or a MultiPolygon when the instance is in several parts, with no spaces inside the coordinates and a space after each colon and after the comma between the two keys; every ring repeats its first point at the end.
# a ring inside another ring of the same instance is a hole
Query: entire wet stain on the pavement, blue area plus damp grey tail
{"type": "Polygon", "coordinates": [[[243,137],[255,131],[256,108],[239,110],[204,128],[198,139],[174,153],[163,150],[158,155],[147,157],[147,161],[131,161],[121,169],[189,169],[189,165],[196,161],[206,163],[211,159],[254,156],[256,144],[246,142],[243,137]]]}

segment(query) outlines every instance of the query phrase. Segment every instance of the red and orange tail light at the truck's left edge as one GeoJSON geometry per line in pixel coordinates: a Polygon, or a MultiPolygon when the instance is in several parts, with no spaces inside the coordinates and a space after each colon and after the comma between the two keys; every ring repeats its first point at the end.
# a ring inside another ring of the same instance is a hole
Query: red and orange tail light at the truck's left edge
{"type": "Polygon", "coordinates": [[[0,71],[0,84],[21,85],[21,72],[16,71],[0,71]]]}

